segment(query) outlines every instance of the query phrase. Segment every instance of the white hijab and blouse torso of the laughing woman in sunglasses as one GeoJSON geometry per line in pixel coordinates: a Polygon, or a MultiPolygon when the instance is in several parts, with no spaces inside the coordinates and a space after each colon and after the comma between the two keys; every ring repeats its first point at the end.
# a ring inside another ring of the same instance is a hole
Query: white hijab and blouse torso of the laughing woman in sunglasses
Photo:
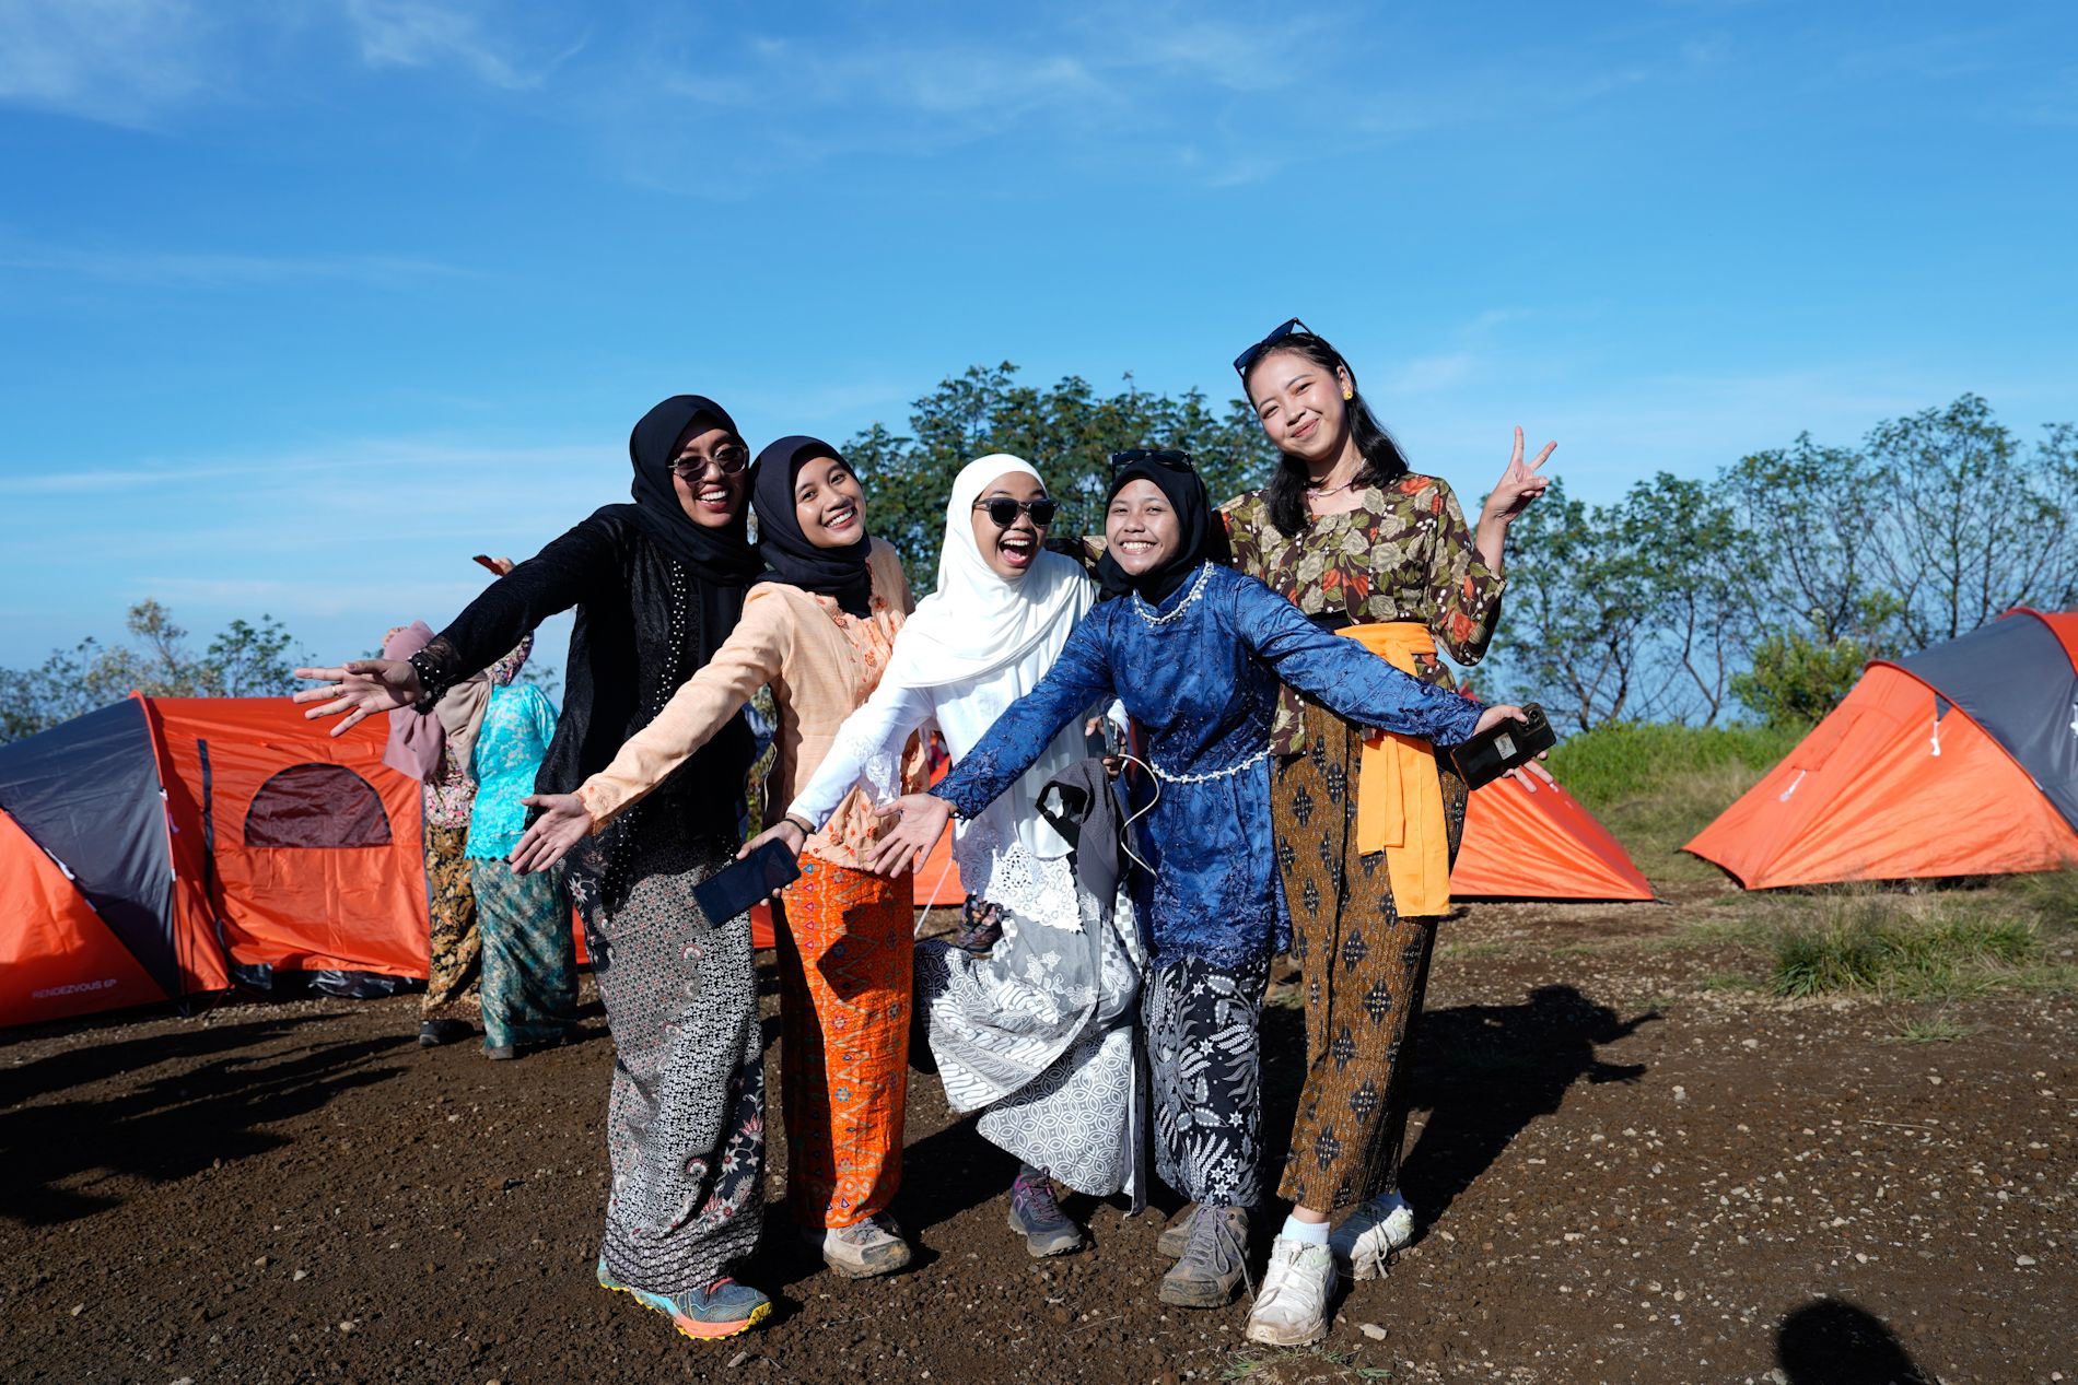
{"type": "MultiPolygon", "coordinates": [[[[916,602],[883,681],[929,687],[939,731],[954,758],[964,756],[1012,702],[1039,685],[1074,623],[1095,604],[1097,583],[1064,554],[1041,548],[1022,577],[1000,577],[975,542],[975,500],[1000,476],[1031,476],[1020,457],[991,453],[960,469],[945,500],[945,546],[937,559],[937,592],[916,602]]],[[[987,812],[960,829],[985,826],[1002,847],[1020,845],[1039,858],[1066,856],[1039,816],[1047,779],[1089,756],[1083,723],[1064,729],[987,812]]]]}

